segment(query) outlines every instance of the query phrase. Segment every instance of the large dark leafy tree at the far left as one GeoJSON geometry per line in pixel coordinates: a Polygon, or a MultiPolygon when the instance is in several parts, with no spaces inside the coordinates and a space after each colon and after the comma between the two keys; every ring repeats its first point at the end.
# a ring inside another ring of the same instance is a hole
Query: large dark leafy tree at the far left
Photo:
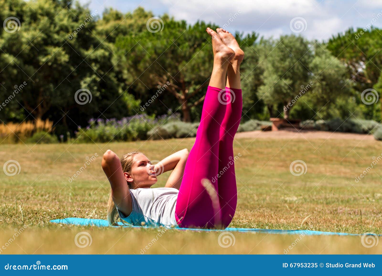
{"type": "Polygon", "coordinates": [[[13,16],[19,28],[0,30],[0,93],[8,97],[25,81],[15,100],[26,116],[62,118],[66,128],[76,129],[93,116],[135,114],[131,111],[139,102],[133,97],[119,100],[123,91],[116,81],[113,53],[94,35],[97,13],[78,2],[58,0],[5,0],[2,6],[1,19],[13,16]],[[90,91],[84,105],[76,94],[79,89],[90,91]]]}

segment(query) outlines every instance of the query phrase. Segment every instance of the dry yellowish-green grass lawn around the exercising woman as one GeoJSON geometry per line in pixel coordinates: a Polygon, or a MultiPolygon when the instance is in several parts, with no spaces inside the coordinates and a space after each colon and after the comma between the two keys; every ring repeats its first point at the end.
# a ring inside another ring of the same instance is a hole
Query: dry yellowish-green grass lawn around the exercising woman
{"type": "MultiPolygon", "coordinates": [[[[0,253],[135,253],[157,235],[155,229],[64,226],[49,220],[65,217],[106,218],[110,186],[100,166],[111,149],[119,156],[139,150],[160,160],[176,150],[191,149],[194,138],[109,144],[1,145],[0,157],[17,160],[15,176],[0,174],[0,247],[26,224],[26,230],[0,253]],[[31,148],[31,151],[29,148],[31,148]],[[29,152],[28,152],[29,151],[29,152]],[[86,157],[98,154],[69,182],[86,157]],[[79,248],[80,231],[92,245],[79,248]]],[[[382,152],[378,141],[237,139],[235,163],[238,206],[230,227],[311,229],[382,234],[381,171],[377,164],[361,181],[354,179],[382,152]],[[303,160],[307,172],[290,173],[292,161],[303,160]]],[[[2,164],[3,164],[2,163],[2,164]]],[[[159,176],[163,187],[170,172],[159,176]]],[[[224,177],[224,175],[222,176],[224,177]]],[[[220,233],[167,230],[146,253],[279,253],[298,236],[234,233],[235,245],[222,248],[220,233]]],[[[366,248],[361,237],[302,237],[290,253],[382,253],[382,242],[366,248]]]]}

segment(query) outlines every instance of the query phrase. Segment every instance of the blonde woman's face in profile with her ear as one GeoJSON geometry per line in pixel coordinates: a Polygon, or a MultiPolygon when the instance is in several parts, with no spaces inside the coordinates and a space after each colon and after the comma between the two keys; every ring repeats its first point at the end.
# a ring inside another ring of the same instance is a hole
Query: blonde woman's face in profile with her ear
{"type": "Polygon", "coordinates": [[[131,173],[125,173],[125,177],[131,183],[131,189],[149,188],[158,181],[154,165],[141,153],[134,155],[131,173]]]}

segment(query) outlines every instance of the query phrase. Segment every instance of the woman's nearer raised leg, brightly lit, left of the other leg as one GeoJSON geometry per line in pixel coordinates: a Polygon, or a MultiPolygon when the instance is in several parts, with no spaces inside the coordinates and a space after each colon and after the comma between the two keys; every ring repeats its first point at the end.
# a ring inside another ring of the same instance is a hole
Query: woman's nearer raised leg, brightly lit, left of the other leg
{"type": "Polygon", "coordinates": [[[219,101],[219,92],[225,88],[227,68],[234,52],[223,44],[215,31],[207,28],[207,32],[212,36],[214,67],[175,208],[176,221],[185,228],[214,228],[221,222],[218,185],[212,183],[212,179],[218,172],[219,131],[226,110],[226,105],[219,101]],[[203,179],[207,179],[212,186],[206,186],[203,179]]]}

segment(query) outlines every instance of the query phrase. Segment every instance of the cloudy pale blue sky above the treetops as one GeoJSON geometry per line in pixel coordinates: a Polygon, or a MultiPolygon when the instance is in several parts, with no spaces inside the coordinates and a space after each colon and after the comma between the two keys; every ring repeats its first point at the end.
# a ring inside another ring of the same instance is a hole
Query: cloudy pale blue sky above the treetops
{"type": "Polygon", "coordinates": [[[255,31],[264,37],[301,34],[327,40],[349,27],[382,27],[382,0],[79,0],[98,13],[113,7],[127,13],[138,6],[155,16],[167,13],[188,23],[227,26],[230,32],[255,31]]]}

